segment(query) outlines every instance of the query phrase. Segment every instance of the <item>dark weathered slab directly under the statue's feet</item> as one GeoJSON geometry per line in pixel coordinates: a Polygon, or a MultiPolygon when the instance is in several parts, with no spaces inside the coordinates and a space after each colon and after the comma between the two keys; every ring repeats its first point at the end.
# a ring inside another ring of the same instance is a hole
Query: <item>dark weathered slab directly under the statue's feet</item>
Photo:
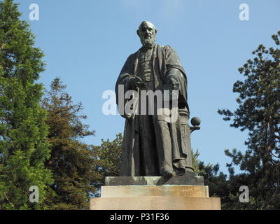
{"type": "Polygon", "coordinates": [[[162,186],[162,185],[193,185],[204,186],[203,176],[195,173],[186,176],[174,176],[172,179],[165,179],[163,176],[107,176],[105,186],[162,186]]]}

